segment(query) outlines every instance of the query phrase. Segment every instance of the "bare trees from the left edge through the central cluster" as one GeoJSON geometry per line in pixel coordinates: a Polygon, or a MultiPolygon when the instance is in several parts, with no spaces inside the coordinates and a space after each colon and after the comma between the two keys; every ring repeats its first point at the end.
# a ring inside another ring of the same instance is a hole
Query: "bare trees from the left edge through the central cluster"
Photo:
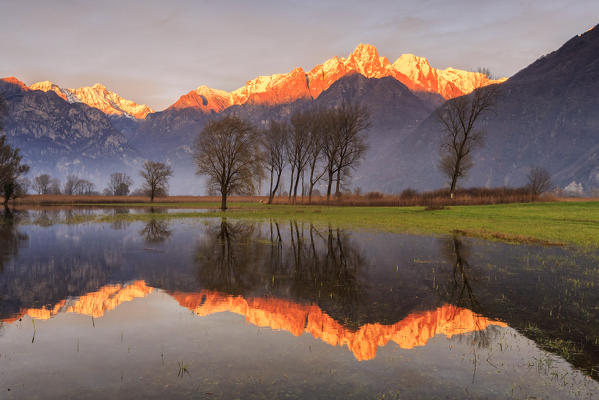
{"type": "MultiPolygon", "coordinates": [[[[0,98],[0,131],[4,102],[0,98]]],[[[255,194],[264,179],[269,179],[268,203],[282,192],[283,176],[288,173],[289,201],[295,203],[298,190],[311,201],[315,187],[326,182],[327,200],[339,196],[367,150],[364,131],[370,126],[368,110],[343,103],[328,109],[297,111],[288,120],[267,121],[256,127],[235,115],[209,121],[199,132],[193,146],[197,174],[208,177],[209,194],[220,193],[221,208],[227,208],[232,194],[255,194]],[[300,185],[301,184],[301,185],[300,185]]],[[[133,179],[124,172],[110,175],[108,186],[100,193],[96,185],[77,175],[68,175],[64,184],[49,174],[25,177],[29,166],[22,163],[19,149],[0,136],[0,195],[6,205],[10,199],[29,189],[40,195],[146,195],[150,201],[168,194],[172,168],[148,160],[140,171],[142,186],[131,192],[133,179]]]]}

